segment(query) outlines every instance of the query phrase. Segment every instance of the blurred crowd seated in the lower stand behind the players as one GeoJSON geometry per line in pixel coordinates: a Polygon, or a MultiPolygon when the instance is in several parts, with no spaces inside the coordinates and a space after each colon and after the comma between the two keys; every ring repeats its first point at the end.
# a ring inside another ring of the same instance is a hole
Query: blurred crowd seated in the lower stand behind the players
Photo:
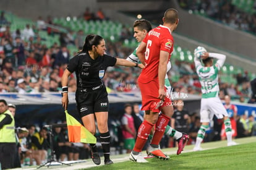
{"type": "MultiPolygon", "coordinates": [[[[87,9],[88,10],[88,9],[87,9]]],[[[4,15],[3,15],[4,16],[4,15]]],[[[4,18],[4,17],[2,17],[4,18]]],[[[11,23],[2,19],[5,24],[4,31],[0,32],[0,91],[1,93],[38,93],[61,90],[61,77],[69,59],[74,56],[70,54],[67,46],[77,46],[77,51],[83,45],[85,35],[82,30],[78,32],[59,33],[59,42],[51,47],[45,45],[45,39],[38,35],[39,30],[45,30],[49,35],[57,33],[51,28],[43,27],[43,19],[38,17],[37,25],[27,24],[23,30],[17,29],[11,32],[11,23]]],[[[47,23],[51,23],[48,17],[47,23]]],[[[3,28],[3,27],[2,27],[3,28]]],[[[132,33],[129,30],[121,32],[128,37],[132,33]]],[[[54,35],[53,35],[54,36],[54,35]]],[[[123,46],[122,41],[107,41],[107,53],[111,56],[126,58],[132,53],[132,49],[123,46]],[[121,48],[120,48],[121,47],[121,48]]],[[[74,52],[75,53],[75,52],[74,52]]],[[[172,70],[168,73],[169,80],[174,91],[190,94],[200,94],[200,83],[195,74],[194,64],[175,59],[172,61],[172,70]],[[178,79],[174,80],[174,76],[178,79]]],[[[137,77],[140,69],[130,67],[114,67],[108,70],[104,82],[109,90],[113,91],[136,91],[137,77]]],[[[237,75],[237,83],[225,83],[220,80],[221,99],[224,95],[235,96],[240,101],[247,102],[252,96],[248,73],[245,71],[237,75]],[[244,100],[245,99],[245,100],[244,100]]],[[[69,83],[69,91],[75,91],[74,75],[69,83]]]]}

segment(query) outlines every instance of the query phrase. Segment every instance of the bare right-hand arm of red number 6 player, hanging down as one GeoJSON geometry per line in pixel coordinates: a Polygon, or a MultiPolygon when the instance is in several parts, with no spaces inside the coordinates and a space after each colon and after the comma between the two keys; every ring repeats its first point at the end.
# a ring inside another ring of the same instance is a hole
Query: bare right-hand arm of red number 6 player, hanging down
{"type": "Polygon", "coordinates": [[[164,90],[164,79],[167,71],[169,53],[166,51],[160,51],[160,60],[158,65],[158,80],[159,80],[159,96],[161,100],[164,100],[166,91],[164,90]]]}

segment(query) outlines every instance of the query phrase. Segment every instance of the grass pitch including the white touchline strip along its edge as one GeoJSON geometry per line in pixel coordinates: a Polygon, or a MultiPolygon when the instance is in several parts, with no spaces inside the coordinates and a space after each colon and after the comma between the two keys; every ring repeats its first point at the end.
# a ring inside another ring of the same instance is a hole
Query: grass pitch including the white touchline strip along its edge
{"type": "MultiPolygon", "coordinates": [[[[227,147],[226,140],[202,143],[203,151],[192,151],[194,145],[187,145],[181,155],[176,155],[177,148],[165,148],[164,153],[170,156],[168,161],[157,158],[148,159],[148,163],[134,163],[129,161],[129,154],[111,155],[114,164],[103,165],[104,158],[101,157],[101,165],[96,166],[92,159],[82,160],[83,163],[72,163],[72,166],[54,165],[44,166],[40,169],[75,170],[75,169],[256,169],[256,137],[235,139],[239,145],[227,147]]],[[[0,153],[1,154],[1,153],[0,153]]],[[[145,155],[145,151],[142,152],[145,155]]],[[[16,168],[15,170],[35,170],[37,166],[16,168]]]]}

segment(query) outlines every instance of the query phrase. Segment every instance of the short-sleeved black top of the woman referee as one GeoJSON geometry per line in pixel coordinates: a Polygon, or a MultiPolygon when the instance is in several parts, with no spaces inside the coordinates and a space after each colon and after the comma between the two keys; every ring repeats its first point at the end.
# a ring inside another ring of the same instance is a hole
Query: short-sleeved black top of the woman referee
{"type": "Polygon", "coordinates": [[[104,54],[93,60],[87,53],[81,52],[70,59],[67,70],[77,76],[77,88],[91,88],[101,85],[106,69],[116,64],[116,58],[104,54]]]}

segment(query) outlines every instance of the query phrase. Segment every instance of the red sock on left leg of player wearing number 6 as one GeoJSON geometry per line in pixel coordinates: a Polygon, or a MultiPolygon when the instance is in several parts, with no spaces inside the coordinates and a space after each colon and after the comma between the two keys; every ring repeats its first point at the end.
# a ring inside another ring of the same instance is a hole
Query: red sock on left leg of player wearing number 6
{"type": "Polygon", "coordinates": [[[137,140],[135,142],[134,151],[140,152],[147,142],[148,135],[153,127],[148,121],[143,121],[138,130],[137,140]]]}

